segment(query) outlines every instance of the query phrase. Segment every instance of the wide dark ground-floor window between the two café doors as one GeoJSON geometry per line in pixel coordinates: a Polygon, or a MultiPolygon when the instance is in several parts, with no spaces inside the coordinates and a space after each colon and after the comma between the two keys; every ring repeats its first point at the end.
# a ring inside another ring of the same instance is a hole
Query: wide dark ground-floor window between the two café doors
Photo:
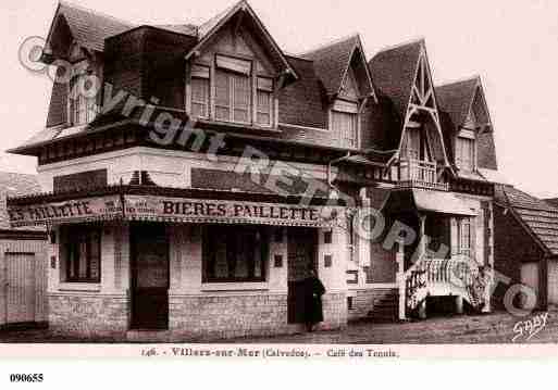
{"type": "Polygon", "coordinates": [[[202,281],[264,281],[268,236],[263,226],[207,226],[202,281]]]}

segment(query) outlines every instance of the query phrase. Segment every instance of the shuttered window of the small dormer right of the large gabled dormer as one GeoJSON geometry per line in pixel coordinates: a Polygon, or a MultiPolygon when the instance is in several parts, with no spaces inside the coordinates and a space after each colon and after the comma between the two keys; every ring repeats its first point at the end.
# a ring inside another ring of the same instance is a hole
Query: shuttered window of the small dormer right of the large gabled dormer
{"type": "Polygon", "coordinates": [[[332,110],[333,138],[342,148],[358,147],[358,106],[356,103],[337,101],[332,110]]]}

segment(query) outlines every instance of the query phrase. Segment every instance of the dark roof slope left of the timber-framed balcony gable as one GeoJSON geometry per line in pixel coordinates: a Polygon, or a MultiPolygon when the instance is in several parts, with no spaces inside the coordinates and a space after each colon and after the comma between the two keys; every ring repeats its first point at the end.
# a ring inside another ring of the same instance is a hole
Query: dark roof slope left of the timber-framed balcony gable
{"type": "Polygon", "coordinates": [[[388,97],[400,118],[405,118],[412,84],[424,40],[387,48],[369,62],[372,79],[380,95],[388,97]]]}

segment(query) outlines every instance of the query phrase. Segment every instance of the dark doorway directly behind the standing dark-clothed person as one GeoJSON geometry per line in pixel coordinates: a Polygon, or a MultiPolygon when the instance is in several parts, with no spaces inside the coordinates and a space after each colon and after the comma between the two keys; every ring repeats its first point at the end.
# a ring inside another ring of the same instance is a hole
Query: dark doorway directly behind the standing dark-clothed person
{"type": "Polygon", "coordinates": [[[288,323],[303,323],[303,280],[310,266],[318,269],[318,232],[314,228],[289,227],[287,230],[288,323]]]}

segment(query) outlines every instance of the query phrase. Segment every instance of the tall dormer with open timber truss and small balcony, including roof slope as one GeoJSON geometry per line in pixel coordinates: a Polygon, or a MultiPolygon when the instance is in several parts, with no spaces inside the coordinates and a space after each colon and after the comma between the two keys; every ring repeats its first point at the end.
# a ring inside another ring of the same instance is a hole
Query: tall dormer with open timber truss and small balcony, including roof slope
{"type": "Polygon", "coordinates": [[[436,185],[449,167],[423,39],[387,48],[371,61],[379,90],[393,102],[399,142],[389,161],[399,180],[436,185]]]}

